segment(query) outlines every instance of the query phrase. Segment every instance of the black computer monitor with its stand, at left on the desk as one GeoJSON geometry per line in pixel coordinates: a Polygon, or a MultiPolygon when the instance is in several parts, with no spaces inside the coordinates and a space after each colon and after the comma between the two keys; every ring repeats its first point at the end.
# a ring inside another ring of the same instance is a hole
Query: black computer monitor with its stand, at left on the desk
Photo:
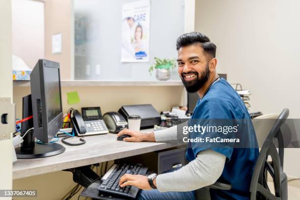
{"type": "Polygon", "coordinates": [[[33,131],[24,137],[17,158],[36,158],[56,155],[65,151],[62,145],[50,143],[63,125],[59,63],[39,59],[30,74],[31,95],[23,98],[22,135],[33,125],[33,131]],[[46,143],[34,143],[34,137],[46,143]]]}

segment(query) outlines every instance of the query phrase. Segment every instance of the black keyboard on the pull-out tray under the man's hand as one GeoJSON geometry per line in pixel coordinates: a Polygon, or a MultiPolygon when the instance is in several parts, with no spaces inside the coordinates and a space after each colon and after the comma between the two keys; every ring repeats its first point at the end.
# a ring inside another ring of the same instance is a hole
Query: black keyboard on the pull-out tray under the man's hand
{"type": "Polygon", "coordinates": [[[135,198],[140,189],[129,185],[121,188],[119,180],[125,174],[146,175],[147,171],[148,168],[142,164],[114,164],[107,173],[101,177],[102,183],[98,190],[103,193],[135,198]]]}

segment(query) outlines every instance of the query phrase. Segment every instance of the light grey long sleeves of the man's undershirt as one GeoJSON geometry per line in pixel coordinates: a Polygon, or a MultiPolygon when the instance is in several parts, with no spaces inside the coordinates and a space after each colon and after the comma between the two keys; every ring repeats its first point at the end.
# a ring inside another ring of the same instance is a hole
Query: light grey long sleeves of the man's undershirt
{"type": "MultiPolygon", "coordinates": [[[[178,134],[182,135],[182,134],[178,134]]],[[[177,126],[154,131],[156,142],[177,142],[177,126]]],[[[182,141],[182,140],[181,140],[182,141]]],[[[215,183],[221,176],[226,156],[214,150],[203,150],[195,160],[181,169],[157,175],[156,186],[160,192],[192,191],[215,183]]]]}

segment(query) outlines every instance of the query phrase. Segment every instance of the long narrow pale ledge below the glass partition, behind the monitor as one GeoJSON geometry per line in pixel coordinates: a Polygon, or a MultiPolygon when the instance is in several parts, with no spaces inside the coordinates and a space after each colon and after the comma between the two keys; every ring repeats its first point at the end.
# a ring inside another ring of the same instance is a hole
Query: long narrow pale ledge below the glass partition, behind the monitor
{"type": "MultiPolygon", "coordinates": [[[[14,86],[30,86],[30,81],[14,80],[14,86]]],[[[106,80],[61,80],[62,87],[84,86],[183,86],[181,80],[169,81],[106,81],[106,80]]]]}

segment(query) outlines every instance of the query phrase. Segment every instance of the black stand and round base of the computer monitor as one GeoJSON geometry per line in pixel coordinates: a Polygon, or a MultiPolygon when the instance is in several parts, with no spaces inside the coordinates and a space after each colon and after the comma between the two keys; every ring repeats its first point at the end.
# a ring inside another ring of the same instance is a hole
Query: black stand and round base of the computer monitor
{"type": "MultiPolygon", "coordinates": [[[[31,95],[23,97],[23,119],[32,115],[31,95]]],[[[22,135],[33,127],[33,120],[27,120],[22,123],[22,135]]],[[[34,130],[29,131],[23,138],[24,142],[21,147],[16,148],[17,158],[42,158],[57,155],[66,149],[60,144],[49,143],[45,145],[36,144],[34,142],[34,130]]]]}

